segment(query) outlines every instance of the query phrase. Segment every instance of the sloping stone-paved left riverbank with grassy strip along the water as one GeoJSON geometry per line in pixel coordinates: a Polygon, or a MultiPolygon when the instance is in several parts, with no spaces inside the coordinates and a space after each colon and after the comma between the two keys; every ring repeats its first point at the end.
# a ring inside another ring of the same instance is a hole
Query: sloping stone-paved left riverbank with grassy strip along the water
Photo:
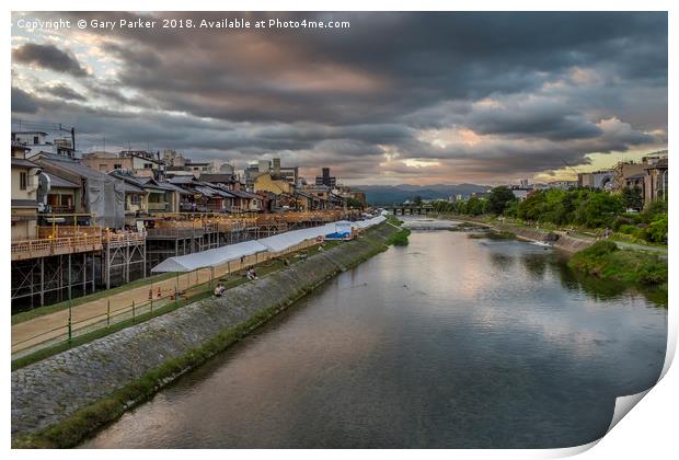
{"type": "Polygon", "coordinates": [[[72,447],[325,280],[387,249],[398,227],[12,372],[14,447],[72,447]]]}

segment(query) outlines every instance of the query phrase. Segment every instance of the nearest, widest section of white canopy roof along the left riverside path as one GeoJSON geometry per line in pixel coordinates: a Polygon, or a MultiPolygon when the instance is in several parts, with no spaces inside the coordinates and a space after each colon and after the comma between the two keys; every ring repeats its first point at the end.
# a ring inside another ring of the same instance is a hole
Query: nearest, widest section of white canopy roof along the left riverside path
{"type": "Polygon", "coordinates": [[[267,251],[267,248],[257,241],[243,241],[242,243],[228,244],[194,254],[165,258],[151,268],[151,272],[191,272],[196,268],[222,265],[229,261],[235,261],[265,251],[267,251]]]}

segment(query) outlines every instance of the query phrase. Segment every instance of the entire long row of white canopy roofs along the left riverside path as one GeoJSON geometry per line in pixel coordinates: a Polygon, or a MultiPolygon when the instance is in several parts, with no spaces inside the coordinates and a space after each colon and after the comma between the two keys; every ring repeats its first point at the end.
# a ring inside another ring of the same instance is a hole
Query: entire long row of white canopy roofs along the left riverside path
{"type": "Polygon", "coordinates": [[[384,220],[384,217],[378,216],[369,220],[359,220],[357,222],[341,220],[337,222],[325,223],[321,227],[292,230],[256,241],[244,241],[242,243],[229,244],[217,249],[196,252],[194,254],[170,257],[151,268],[151,272],[191,272],[196,268],[223,265],[229,261],[235,261],[243,256],[256,254],[258,252],[281,252],[303,241],[315,240],[319,237],[335,233],[338,225],[341,227],[352,226],[352,228],[365,229],[381,223],[384,220]]]}

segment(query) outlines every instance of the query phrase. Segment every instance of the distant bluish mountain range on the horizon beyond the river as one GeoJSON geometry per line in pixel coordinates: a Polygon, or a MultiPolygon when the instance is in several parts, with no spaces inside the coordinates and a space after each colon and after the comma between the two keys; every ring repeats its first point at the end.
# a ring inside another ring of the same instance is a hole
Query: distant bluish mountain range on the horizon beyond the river
{"type": "Polygon", "coordinates": [[[491,186],[476,184],[435,185],[357,185],[371,205],[394,205],[419,196],[422,199],[447,199],[450,196],[486,192],[491,186]]]}

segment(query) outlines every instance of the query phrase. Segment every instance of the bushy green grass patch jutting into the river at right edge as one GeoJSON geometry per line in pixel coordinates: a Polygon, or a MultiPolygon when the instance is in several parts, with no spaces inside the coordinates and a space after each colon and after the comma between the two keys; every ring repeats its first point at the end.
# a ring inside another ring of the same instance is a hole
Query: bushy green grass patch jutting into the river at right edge
{"type": "Polygon", "coordinates": [[[667,260],[645,251],[621,250],[612,241],[598,241],[575,253],[568,266],[600,279],[624,281],[667,292],[667,260]]]}

